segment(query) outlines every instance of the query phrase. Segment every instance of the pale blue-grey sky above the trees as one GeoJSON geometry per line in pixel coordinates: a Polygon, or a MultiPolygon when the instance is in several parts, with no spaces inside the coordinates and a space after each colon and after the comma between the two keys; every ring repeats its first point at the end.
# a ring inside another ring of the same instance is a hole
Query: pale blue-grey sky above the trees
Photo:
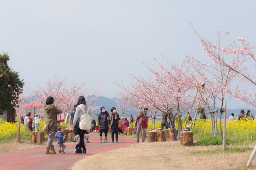
{"type": "Polygon", "coordinates": [[[153,66],[153,58],[207,60],[189,22],[204,39],[230,31],[228,43],[255,44],[255,7],[254,0],[1,0],[0,53],[32,87],[54,75],[89,89],[102,80],[102,96],[113,98],[114,82],[129,87],[129,71],[147,76],[143,63],[153,66]]]}

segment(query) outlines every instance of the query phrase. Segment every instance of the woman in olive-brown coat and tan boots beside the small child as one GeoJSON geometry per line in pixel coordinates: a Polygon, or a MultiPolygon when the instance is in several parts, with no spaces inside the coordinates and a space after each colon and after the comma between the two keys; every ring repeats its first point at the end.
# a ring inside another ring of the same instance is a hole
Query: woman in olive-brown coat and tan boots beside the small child
{"type": "Polygon", "coordinates": [[[44,110],[46,112],[46,123],[48,124],[47,131],[47,144],[45,148],[45,154],[56,154],[54,150],[54,146],[52,145],[55,133],[57,131],[57,114],[59,114],[59,110],[54,104],[53,97],[47,97],[45,102],[44,110]],[[51,149],[51,152],[49,151],[51,149]]]}

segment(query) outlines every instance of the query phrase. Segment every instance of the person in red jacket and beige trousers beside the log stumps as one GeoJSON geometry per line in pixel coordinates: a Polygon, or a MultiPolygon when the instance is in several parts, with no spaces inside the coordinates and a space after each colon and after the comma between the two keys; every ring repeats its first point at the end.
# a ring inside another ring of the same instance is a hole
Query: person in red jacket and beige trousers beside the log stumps
{"type": "Polygon", "coordinates": [[[136,120],[135,120],[135,128],[137,129],[136,131],[137,143],[140,140],[140,131],[142,131],[142,142],[144,142],[146,129],[148,128],[148,122],[147,122],[146,116],[143,115],[142,110],[138,111],[138,116],[136,117],[136,120]]]}

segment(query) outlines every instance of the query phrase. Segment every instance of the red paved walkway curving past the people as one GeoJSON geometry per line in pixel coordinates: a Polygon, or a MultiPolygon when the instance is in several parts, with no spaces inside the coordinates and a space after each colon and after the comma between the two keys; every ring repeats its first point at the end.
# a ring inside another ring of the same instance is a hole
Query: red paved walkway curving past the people
{"type": "Polygon", "coordinates": [[[67,144],[64,154],[46,155],[45,148],[0,153],[0,169],[70,169],[75,162],[84,157],[136,143],[135,139],[124,136],[119,136],[119,143],[112,143],[111,135],[108,135],[109,143],[99,143],[98,134],[90,135],[89,140],[90,143],[86,145],[86,155],[73,154],[76,143],[67,144]]]}

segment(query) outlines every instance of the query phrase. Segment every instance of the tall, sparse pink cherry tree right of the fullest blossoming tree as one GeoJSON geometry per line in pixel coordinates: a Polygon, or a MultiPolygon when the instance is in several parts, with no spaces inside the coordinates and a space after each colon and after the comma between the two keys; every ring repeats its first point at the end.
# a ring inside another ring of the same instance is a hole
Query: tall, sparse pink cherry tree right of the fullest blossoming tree
{"type": "MultiPolygon", "coordinates": [[[[223,105],[224,105],[224,101],[227,100],[228,91],[230,91],[231,89],[232,80],[238,77],[237,76],[238,74],[230,66],[228,67],[224,63],[228,63],[228,65],[232,65],[237,70],[244,72],[246,69],[242,67],[242,65],[245,63],[245,60],[241,59],[239,61],[239,58],[243,56],[244,51],[241,48],[237,48],[237,50],[234,50],[236,48],[235,42],[233,42],[233,44],[231,45],[228,45],[227,48],[222,48],[221,40],[223,37],[221,37],[220,32],[218,32],[218,41],[212,44],[211,42],[208,42],[202,39],[201,36],[196,32],[193,26],[192,28],[201,40],[203,53],[206,54],[211,59],[212,62],[211,63],[202,62],[202,61],[196,60],[194,57],[192,58],[188,57],[188,62],[195,68],[198,74],[201,75],[201,77],[203,77],[203,79],[205,80],[207,84],[205,95],[213,101],[212,104],[214,109],[215,109],[216,99],[220,100],[220,103],[221,103],[220,133],[223,141],[222,130],[221,130],[221,117],[224,111],[223,105]],[[229,55],[229,54],[233,54],[232,59],[226,57],[226,55],[229,55]]],[[[229,32],[226,32],[226,35],[228,34],[229,32]]],[[[207,101],[204,101],[204,102],[207,103],[207,101]]],[[[217,123],[217,114],[216,114],[216,123],[217,123]]],[[[215,132],[214,136],[216,136],[216,126],[215,126],[214,132],[215,132]]]]}

